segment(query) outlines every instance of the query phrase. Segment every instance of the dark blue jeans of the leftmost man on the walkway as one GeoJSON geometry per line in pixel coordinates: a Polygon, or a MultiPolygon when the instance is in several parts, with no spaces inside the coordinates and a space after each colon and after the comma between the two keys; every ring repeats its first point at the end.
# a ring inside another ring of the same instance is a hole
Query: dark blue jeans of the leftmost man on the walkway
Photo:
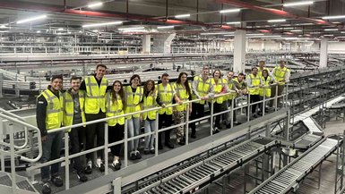
{"type": "MultiPolygon", "coordinates": [[[[50,160],[60,158],[61,148],[63,146],[64,131],[58,131],[47,134],[47,139],[42,142],[42,157],[41,163],[47,163],[50,160]]],[[[47,182],[50,178],[59,175],[60,163],[51,164],[40,169],[40,176],[43,182],[47,182]],[[49,167],[51,169],[49,169],[49,167]]]]}

